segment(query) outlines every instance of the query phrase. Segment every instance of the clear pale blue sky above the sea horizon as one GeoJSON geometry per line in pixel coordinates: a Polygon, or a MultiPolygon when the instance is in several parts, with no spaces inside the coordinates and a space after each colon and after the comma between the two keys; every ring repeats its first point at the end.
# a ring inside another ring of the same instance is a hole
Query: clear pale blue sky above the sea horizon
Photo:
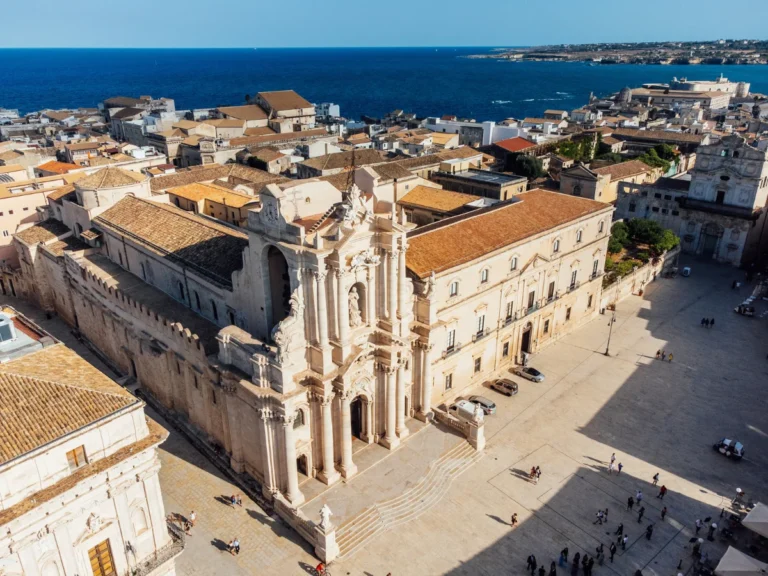
{"type": "Polygon", "coordinates": [[[732,5],[722,0],[5,0],[2,4],[5,26],[0,47],[6,48],[530,46],[768,36],[767,0],[732,5]]]}

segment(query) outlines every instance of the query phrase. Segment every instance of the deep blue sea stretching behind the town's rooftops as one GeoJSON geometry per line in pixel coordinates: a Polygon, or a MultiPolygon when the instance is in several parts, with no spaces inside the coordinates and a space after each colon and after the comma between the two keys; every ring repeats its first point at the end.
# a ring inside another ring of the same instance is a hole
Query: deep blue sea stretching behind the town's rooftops
{"type": "Polygon", "coordinates": [[[492,48],[0,49],[0,107],[93,107],[110,96],[170,97],[180,110],[293,89],[346,118],[400,108],[478,121],[572,110],[624,86],[720,74],[768,93],[768,66],[590,65],[470,59],[492,48]]]}

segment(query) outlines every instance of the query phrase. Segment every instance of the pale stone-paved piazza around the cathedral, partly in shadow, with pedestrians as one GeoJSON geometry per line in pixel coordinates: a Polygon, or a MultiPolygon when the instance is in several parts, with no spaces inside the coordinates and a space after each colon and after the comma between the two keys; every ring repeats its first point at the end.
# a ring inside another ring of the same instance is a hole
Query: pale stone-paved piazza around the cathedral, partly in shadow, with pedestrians
{"type": "MultiPolygon", "coordinates": [[[[591,554],[600,542],[607,551],[619,522],[629,535],[627,550],[619,549],[613,564],[606,558],[595,573],[632,575],[640,568],[645,576],[669,576],[677,573],[680,560],[685,572],[696,518],[717,518],[737,486],[750,499],[768,499],[766,320],[733,313],[751,290],[731,290],[731,282],[743,278],[741,272],[689,263],[690,278],[659,279],[642,298],[619,303],[611,357],[603,355],[606,315],[533,358],[531,364],[546,374],[544,383],[521,382],[520,393],[512,398],[483,392],[498,404],[498,413],[486,419],[484,457],[452,482],[448,474],[438,475],[450,482],[447,488],[426,483],[427,494],[409,502],[415,512],[408,521],[334,563],[333,574],[524,574],[531,553],[549,569],[566,545],[571,556],[591,554]],[[715,317],[714,328],[700,326],[705,316],[715,317]],[[672,352],[674,361],[656,360],[658,349],[672,352]],[[712,450],[715,440],[731,435],[746,445],[741,463],[712,450]],[[624,466],[621,475],[607,472],[613,452],[624,466]],[[543,472],[538,484],[527,479],[534,465],[543,472]],[[659,484],[669,489],[663,502],[651,485],[656,472],[659,484]],[[644,494],[642,523],[636,512],[625,511],[627,497],[637,490],[644,494]],[[435,501],[429,494],[437,491],[441,498],[435,501]],[[669,512],[661,521],[664,505],[669,512]],[[597,510],[605,507],[608,522],[593,524],[597,510]],[[514,529],[509,525],[513,512],[520,521],[514,529]],[[654,524],[650,541],[644,536],[649,523],[654,524]]],[[[41,323],[56,335],[63,333],[58,321],[41,323]]],[[[429,445],[437,458],[440,451],[430,438],[446,441],[435,432],[417,432],[400,450],[429,445]]],[[[445,443],[446,449],[451,446],[445,443]]],[[[177,562],[180,576],[301,575],[316,563],[295,533],[254,503],[246,501],[238,509],[223,503],[221,497],[237,489],[178,434],[161,446],[160,454],[166,511],[194,509],[199,515],[177,562]],[[243,544],[239,557],[220,550],[236,535],[243,544]]],[[[354,498],[364,491],[367,478],[381,482],[387,466],[399,461],[407,466],[410,460],[383,460],[339,486],[334,499],[343,501],[344,490],[354,498]]],[[[390,490],[382,500],[392,497],[390,490]]],[[[308,512],[311,508],[312,502],[308,512]]],[[[725,547],[718,537],[706,542],[704,551],[717,558],[725,547]]],[[[558,574],[567,573],[558,569],[558,574]]]]}

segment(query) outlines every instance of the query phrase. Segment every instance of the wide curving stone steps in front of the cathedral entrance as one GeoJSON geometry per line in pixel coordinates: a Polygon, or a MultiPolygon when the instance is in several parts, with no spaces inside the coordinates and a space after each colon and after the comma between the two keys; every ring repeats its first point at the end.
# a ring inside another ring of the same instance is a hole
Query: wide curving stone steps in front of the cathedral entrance
{"type": "Polygon", "coordinates": [[[421,516],[448,492],[451,481],[482,458],[469,442],[460,442],[435,461],[426,476],[400,496],[379,502],[336,531],[340,558],[349,558],[373,537],[421,516]]]}

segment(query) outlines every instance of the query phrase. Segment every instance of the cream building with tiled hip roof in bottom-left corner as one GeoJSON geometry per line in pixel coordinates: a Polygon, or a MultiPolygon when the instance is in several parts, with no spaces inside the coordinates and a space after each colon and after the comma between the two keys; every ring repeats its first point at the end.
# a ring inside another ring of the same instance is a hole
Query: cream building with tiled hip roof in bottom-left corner
{"type": "Polygon", "coordinates": [[[0,313],[0,572],[172,576],[144,402],[50,334],[0,313]]]}

